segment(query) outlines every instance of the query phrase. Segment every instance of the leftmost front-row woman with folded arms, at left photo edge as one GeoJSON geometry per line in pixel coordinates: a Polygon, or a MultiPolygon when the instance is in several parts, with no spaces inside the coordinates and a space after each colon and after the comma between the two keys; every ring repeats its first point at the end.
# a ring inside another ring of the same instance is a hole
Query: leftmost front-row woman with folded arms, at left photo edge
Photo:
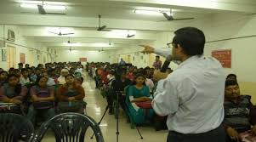
{"type": "Polygon", "coordinates": [[[7,81],[0,88],[0,102],[15,104],[9,111],[21,114],[20,105],[26,97],[27,88],[21,86],[19,77],[14,74],[9,74],[7,81]]]}

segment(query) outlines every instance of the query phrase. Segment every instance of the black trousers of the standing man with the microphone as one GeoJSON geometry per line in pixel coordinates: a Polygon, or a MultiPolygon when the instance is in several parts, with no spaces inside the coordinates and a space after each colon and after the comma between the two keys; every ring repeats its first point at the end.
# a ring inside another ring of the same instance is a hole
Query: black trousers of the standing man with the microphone
{"type": "Polygon", "coordinates": [[[178,133],[169,131],[167,142],[225,142],[225,129],[222,126],[206,133],[178,133]]]}

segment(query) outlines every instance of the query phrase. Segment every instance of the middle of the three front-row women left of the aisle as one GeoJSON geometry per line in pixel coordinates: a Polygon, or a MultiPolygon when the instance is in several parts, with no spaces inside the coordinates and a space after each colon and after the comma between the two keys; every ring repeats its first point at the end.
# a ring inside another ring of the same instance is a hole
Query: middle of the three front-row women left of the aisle
{"type": "Polygon", "coordinates": [[[31,87],[31,101],[28,110],[28,118],[35,123],[37,115],[43,116],[43,120],[48,120],[55,115],[54,111],[54,88],[47,86],[46,77],[37,77],[36,85],[31,87]]]}

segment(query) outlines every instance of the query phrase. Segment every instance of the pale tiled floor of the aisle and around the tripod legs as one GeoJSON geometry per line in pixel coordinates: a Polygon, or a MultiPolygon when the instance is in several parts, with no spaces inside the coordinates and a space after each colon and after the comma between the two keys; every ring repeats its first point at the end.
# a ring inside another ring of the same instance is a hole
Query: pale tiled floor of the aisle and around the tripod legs
{"type": "MultiPolygon", "coordinates": [[[[83,87],[85,88],[87,105],[87,114],[94,118],[96,122],[100,121],[101,116],[105,111],[106,100],[100,95],[100,91],[95,89],[94,81],[90,77],[84,78],[83,87]]],[[[140,139],[139,133],[136,129],[131,129],[130,124],[126,122],[126,118],[123,112],[120,114],[119,120],[119,141],[120,142],[164,142],[166,141],[168,131],[155,131],[151,127],[139,128],[144,139],[140,139]]],[[[117,121],[113,115],[106,113],[103,121],[100,124],[101,131],[103,133],[105,142],[116,142],[117,141],[117,121]]],[[[96,141],[90,139],[92,132],[86,134],[86,140],[88,142],[96,141]]],[[[43,141],[49,142],[54,141],[53,133],[48,133],[43,141]]]]}

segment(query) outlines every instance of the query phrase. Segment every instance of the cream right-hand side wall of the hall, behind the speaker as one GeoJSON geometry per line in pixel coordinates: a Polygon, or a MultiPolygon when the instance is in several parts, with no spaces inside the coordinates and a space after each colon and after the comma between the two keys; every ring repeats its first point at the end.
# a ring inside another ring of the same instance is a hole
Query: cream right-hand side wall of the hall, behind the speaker
{"type": "MultiPolygon", "coordinates": [[[[204,31],[207,41],[225,39],[230,37],[243,37],[256,35],[256,16],[239,14],[213,14],[211,17],[194,20],[185,24],[173,24],[174,29],[185,26],[195,26],[204,31]]],[[[172,32],[162,32],[156,35],[156,41],[151,43],[155,48],[166,47],[169,39],[172,39],[172,32]]],[[[232,65],[225,69],[226,75],[235,73],[237,75],[241,94],[252,95],[253,104],[256,104],[256,37],[240,38],[225,42],[206,43],[205,55],[211,56],[213,50],[231,49],[232,65]]],[[[118,52],[118,54],[122,54],[118,52]]],[[[155,55],[151,54],[148,65],[154,61],[155,55]]],[[[162,60],[162,59],[161,59],[162,60]]],[[[136,64],[136,63],[135,63],[136,64]]],[[[141,65],[143,66],[143,65],[141,65]]],[[[172,68],[177,67],[171,65],[172,68]]]]}

